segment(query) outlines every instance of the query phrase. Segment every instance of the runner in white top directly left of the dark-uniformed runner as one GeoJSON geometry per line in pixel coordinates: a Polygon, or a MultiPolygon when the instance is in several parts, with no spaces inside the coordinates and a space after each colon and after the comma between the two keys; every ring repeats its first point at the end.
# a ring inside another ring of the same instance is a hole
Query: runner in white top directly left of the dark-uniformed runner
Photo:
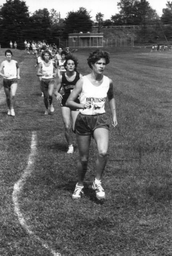
{"type": "Polygon", "coordinates": [[[42,62],[39,63],[39,68],[37,70],[37,76],[41,76],[41,86],[42,91],[44,94],[44,104],[45,104],[45,115],[49,114],[49,107],[50,112],[54,112],[54,107],[52,105],[52,94],[54,90],[54,77],[57,75],[57,69],[55,62],[51,60],[51,55],[48,50],[45,50],[41,54],[42,62]],[[54,72],[55,71],[55,72],[54,72]]]}

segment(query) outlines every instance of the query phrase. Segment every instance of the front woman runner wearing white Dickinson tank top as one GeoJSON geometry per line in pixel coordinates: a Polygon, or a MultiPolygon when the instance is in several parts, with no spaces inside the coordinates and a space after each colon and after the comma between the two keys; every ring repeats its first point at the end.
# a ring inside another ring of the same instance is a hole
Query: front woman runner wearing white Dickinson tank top
{"type": "Polygon", "coordinates": [[[78,183],[72,195],[73,199],[80,199],[83,194],[83,181],[87,171],[91,136],[94,137],[98,149],[96,178],[92,184],[92,189],[96,191],[97,199],[105,199],[101,178],[107,161],[109,141],[109,120],[104,109],[107,97],[112,112],[113,126],[117,125],[113,82],[103,75],[104,68],[109,62],[110,58],[107,52],[96,50],[91,53],[88,57],[88,65],[92,71],[76,83],[66,103],[69,107],[80,109],[75,122],[80,159],[78,183]],[[80,103],[75,102],[78,95],[80,95],[80,103]]]}

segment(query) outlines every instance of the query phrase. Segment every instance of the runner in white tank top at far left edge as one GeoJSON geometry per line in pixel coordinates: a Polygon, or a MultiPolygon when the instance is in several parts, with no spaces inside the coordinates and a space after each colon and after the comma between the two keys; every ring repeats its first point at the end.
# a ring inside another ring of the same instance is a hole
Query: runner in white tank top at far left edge
{"type": "Polygon", "coordinates": [[[0,65],[0,76],[3,77],[3,88],[8,106],[7,115],[15,116],[15,95],[17,90],[17,79],[20,79],[20,76],[18,62],[16,62],[16,60],[11,60],[12,55],[11,50],[5,51],[7,60],[4,60],[0,65]]]}

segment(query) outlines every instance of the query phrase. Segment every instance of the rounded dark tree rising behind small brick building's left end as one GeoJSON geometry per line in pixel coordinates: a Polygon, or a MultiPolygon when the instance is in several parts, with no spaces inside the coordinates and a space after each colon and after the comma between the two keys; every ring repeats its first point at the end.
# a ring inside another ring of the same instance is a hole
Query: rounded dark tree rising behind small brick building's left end
{"type": "Polygon", "coordinates": [[[89,13],[85,8],[80,7],[76,12],[68,12],[67,18],[65,18],[64,38],[68,37],[68,33],[86,33],[91,31],[91,28],[92,20],[89,13]]]}

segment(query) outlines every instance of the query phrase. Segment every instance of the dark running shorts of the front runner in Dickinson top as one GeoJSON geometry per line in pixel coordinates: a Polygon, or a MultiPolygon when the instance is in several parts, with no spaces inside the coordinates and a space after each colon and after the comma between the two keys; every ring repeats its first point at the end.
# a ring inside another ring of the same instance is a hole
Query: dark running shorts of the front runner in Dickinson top
{"type": "Polygon", "coordinates": [[[109,130],[109,120],[106,113],[97,115],[78,114],[75,122],[75,131],[80,135],[93,135],[97,128],[109,130]]]}

